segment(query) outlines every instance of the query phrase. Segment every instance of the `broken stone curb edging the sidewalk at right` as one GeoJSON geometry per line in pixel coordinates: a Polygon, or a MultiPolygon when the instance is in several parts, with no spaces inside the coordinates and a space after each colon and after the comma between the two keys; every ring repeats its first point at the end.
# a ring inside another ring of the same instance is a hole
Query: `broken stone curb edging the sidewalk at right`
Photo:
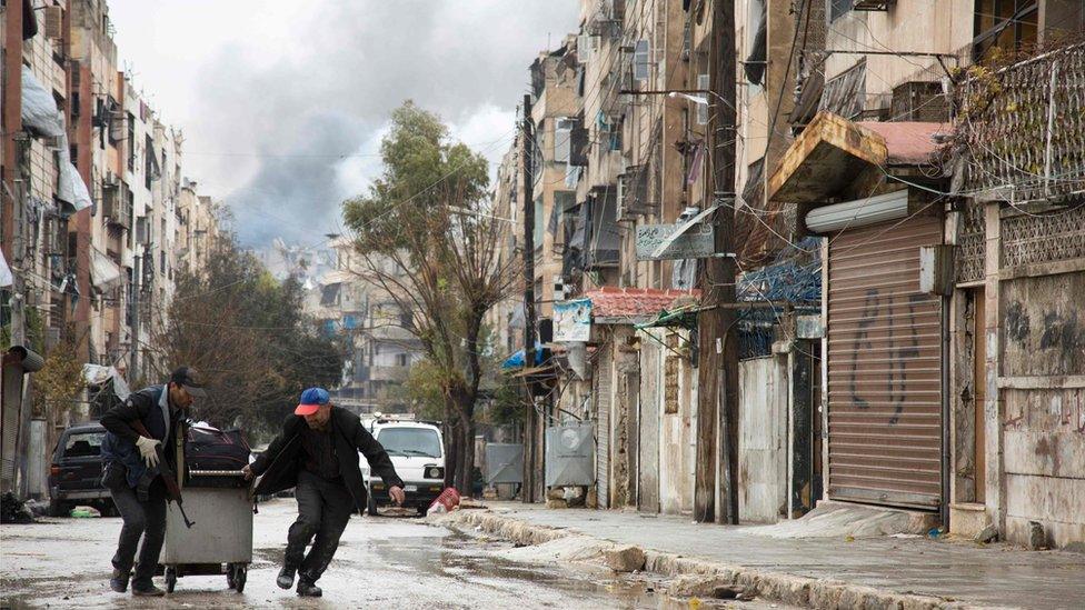
{"type": "MultiPolygon", "coordinates": [[[[596,540],[605,547],[618,546],[608,540],[596,539],[583,533],[501,517],[489,510],[457,510],[427,519],[427,522],[452,529],[482,531],[521,546],[542,544],[569,536],[596,540]]],[[[968,604],[932,596],[897,593],[840,580],[814,579],[783,572],[755,570],[650,549],[644,549],[644,551],[645,571],[678,579],[675,587],[685,596],[710,596],[710,591],[716,587],[736,587],[756,593],[764,599],[803,608],[863,610],[960,610],[972,608],[968,604]]]]}

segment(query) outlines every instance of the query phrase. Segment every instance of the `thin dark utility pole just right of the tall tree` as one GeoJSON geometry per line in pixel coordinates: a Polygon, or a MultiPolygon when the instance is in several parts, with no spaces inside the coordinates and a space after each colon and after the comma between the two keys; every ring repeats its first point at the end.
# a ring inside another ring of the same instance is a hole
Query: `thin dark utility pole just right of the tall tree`
{"type": "MultiPolygon", "coordinates": [[[[531,121],[531,94],[524,96],[524,371],[535,366],[535,196],[531,192],[531,141],[535,126],[531,121]]],[[[527,412],[524,418],[524,482],[520,500],[535,501],[535,391],[531,378],[524,376],[527,390],[527,412]]]]}

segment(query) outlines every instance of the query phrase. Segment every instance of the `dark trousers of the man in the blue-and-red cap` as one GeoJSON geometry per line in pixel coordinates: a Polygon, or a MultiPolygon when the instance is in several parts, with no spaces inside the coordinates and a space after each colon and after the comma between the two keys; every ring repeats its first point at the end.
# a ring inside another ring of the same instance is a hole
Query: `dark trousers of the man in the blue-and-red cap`
{"type": "Polygon", "coordinates": [[[339,537],[355,509],[355,500],[342,482],[332,482],[307,470],[298,473],[293,491],[298,500],[298,520],[287,534],[286,566],[300,568],[301,578],[316,582],[328,569],[339,537]],[[309,554],[306,544],[316,537],[309,554]]]}

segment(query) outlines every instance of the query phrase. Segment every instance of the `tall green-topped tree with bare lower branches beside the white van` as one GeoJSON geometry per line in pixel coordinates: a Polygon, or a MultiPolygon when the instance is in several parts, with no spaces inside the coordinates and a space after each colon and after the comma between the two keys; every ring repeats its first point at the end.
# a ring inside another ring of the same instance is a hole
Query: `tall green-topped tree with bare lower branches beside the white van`
{"type": "MultiPolygon", "coordinates": [[[[449,483],[469,489],[475,406],[484,377],[486,312],[510,290],[502,260],[509,227],[492,219],[486,159],[452,142],[440,119],[412,102],[392,112],[384,173],[344,203],[365,259],[360,274],[410,313],[428,377],[440,388],[449,483]]],[[[424,392],[425,393],[425,392],[424,392]]]]}

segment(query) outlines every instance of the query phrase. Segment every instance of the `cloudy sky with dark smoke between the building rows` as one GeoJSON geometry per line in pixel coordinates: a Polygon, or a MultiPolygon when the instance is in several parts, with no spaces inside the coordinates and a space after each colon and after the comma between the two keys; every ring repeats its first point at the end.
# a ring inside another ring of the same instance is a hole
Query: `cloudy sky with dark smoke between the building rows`
{"type": "Polygon", "coordinates": [[[313,244],[380,171],[390,111],[438,112],[491,161],[577,0],[109,0],[121,69],[185,133],[185,173],[242,242],[313,244]]]}

